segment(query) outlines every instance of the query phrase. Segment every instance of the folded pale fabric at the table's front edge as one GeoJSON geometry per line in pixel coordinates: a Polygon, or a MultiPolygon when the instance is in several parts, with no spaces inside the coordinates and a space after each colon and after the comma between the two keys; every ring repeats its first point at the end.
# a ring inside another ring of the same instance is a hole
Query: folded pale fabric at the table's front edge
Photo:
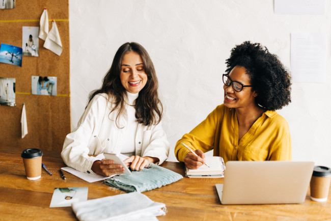
{"type": "Polygon", "coordinates": [[[141,192],[130,192],[71,204],[80,221],[157,220],[166,215],[166,204],[157,203],[141,192]]]}

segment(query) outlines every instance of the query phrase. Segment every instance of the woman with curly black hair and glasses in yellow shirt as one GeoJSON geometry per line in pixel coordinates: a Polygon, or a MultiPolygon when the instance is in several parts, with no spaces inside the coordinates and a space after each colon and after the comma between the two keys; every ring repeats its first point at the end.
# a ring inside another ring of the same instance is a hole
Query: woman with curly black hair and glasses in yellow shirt
{"type": "Polygon", "coordinates": [[[289,72],[266,47],[249,41],[234,47],[226,64],[223,104],[177,142],[177,159],[189,169],[199,168],[209,150],[225,162],[291,160],[289,126],[275,112],[291,102],[289,72]]]}

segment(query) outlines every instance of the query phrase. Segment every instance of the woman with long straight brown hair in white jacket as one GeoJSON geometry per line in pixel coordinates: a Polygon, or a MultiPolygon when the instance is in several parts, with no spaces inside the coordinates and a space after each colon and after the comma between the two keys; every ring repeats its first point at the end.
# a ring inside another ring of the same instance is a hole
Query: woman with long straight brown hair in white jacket
{"type": "Polygon", "coordinates": [[[168,158],[169,142],[161,126],[162,104],[158,81],[146,49],[123,44],[100,89],[91,92],[78,127],[66,136],[62,158],[78,171],[103,176],[123,173],[113,160],[98,160],[100,153],[122,153],[131,170],[168,158]]]}

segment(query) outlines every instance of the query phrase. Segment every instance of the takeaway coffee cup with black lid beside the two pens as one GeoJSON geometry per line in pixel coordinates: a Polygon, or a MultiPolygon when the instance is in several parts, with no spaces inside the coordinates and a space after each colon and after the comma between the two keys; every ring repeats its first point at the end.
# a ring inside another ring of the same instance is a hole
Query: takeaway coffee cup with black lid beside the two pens
{"type": "Polygon", "coordinates": [[[41,150],[32,148],[23,150],[21,157],[23,158],[26,178],[29,180],[37,180],[41,177],[41,158],[43,153],[41,150]]]}

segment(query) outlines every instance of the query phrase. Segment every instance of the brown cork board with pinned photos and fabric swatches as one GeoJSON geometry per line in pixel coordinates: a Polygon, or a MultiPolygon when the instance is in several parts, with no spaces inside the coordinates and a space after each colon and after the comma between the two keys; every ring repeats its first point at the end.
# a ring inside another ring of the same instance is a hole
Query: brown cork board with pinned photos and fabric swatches
{"type": "Polygon", "coordinates": [[[22,26],[38,26],[47,8],[49,30],[56,21],[63,51],[61,56],[43,47],[39,39],[39,56],[22,57],[22,67],[0,63],[0,77],[15,78],[16,106],[0,105],[0,147],[40,148],[61,151],[70,132],[70,54],[69,2],[19,0],[14,9],[0,9],[0,43],[22,47],[22,26]],[[57,77],[57,95],[31,94],[32,76],[57,77]],[[27,130],[21,138],[21,113],[25,103],[27,130]]]}

